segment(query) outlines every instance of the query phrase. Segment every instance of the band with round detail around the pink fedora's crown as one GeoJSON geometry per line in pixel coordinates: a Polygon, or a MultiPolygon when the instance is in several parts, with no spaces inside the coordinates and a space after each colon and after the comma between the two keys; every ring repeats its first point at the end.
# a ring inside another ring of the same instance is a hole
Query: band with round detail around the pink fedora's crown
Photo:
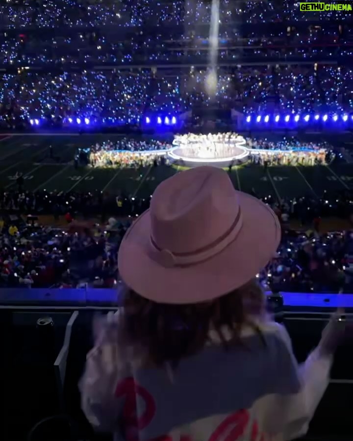
{"type": "Polygon", "coordinates": [[[169,249],[162,249],[156,244],[151,236],[151,258],[165,268],[196,265],[223,251],[236,239],[242,226],[243,218],[239,207],[235,220],[222,236],[211,244],[186,253],[173,253],[169,249]]]}

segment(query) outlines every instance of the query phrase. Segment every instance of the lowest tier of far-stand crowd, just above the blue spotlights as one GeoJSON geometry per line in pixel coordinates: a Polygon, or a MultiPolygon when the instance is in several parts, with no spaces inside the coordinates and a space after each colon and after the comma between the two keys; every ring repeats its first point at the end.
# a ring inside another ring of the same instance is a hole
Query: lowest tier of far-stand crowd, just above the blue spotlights
{"type": "Polygon", "coordinates": [[[0,125],[11,126],[21,118],[37,126],[49,118],[67,125],[166,126],[175,125],[178,115],[193,105],[215,103],[241,104],[247,123],[351,123],[351,69],[312,65],[219,70],[214,98],[205,93],[205,74],[195,69],[167,77],[149,69],[3,73],[0,125]]]}

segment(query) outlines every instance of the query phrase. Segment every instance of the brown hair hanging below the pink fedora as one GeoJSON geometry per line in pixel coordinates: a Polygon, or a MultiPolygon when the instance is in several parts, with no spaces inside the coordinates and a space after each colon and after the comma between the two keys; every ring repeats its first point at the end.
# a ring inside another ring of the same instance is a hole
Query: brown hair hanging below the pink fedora
{"type": "Polygon", "coordinates": [[[181,359],[202,350],[214,329],[225,350],[241,345],[243,325],[250,325],[262,341],[263,336],[253,317],[265,313],[265,296],[255,281],[216,300],[174,305],[156,303],[128,291],[125,297],[124,340],[146,354],[149,363],[175,368],[181,359]],[[228,329],[231,338],[224,335],[228,329]]]}

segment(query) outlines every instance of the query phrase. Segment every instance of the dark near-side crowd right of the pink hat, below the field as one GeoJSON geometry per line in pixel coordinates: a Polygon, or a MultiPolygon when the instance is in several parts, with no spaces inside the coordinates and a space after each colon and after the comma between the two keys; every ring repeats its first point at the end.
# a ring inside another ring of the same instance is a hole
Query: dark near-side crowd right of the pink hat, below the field
{"type": "Polygon", "coordinates": [[[353,289],[352,232],[285,231],[276,257],[257,277],[274,292],[348,292],[353,289]]]}

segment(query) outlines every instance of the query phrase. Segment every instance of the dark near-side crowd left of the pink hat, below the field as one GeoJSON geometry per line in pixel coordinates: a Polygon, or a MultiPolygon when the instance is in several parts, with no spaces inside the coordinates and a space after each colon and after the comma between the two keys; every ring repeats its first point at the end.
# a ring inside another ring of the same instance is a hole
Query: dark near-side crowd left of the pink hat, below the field
{"type": "Polygon", "coordinates": [[[79,234],[19,218],[1,218],[0,226],[1,288],[112,288],[117,283],[122,222],[79,234]]]}

